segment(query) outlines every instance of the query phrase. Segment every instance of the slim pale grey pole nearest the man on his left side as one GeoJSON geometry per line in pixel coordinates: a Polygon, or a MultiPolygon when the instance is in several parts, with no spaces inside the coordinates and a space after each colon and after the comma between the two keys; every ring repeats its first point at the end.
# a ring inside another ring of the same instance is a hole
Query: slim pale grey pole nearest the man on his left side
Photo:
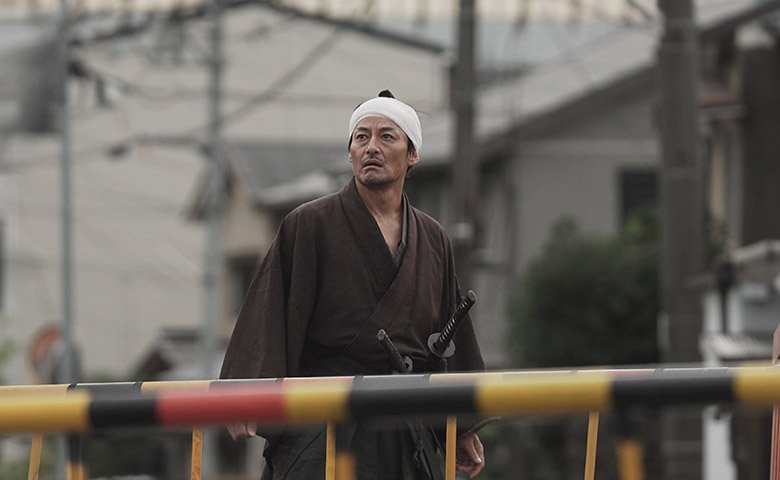
{"type": "MultiPolygon", "coordinates": [[[[212,0],[211,5],[211,53],[209,64],[209,130],[208,130],[208,195],[206,213],[206,252],[203,273],[203,375],[210,380],[216,376],[216,327],[220,318],[220,278],[222,270],[222,215],[224,171],[222,153],[222,80],[224,73],[224,48],[222,33],[222,1],[212,0]]],[[[213,475],[216,468],[217,435],[213,430],[203,432],[203,473],[213,475]]]]}

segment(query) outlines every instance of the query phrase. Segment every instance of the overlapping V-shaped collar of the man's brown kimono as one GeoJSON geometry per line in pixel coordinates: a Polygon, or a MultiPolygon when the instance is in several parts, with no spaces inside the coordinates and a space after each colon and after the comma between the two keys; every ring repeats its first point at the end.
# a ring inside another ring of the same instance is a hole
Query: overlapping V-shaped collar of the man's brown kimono
{"type": "MultiPolygon", "coordinates": [[[[358,195],[356,187],[354,187],[354,179],[352,186],[354,194],[358,195]]],[[[377,266],[377,270],[379,270],[381,274],[389,277],[387,288],[379,298],[374,310],[342,352],[343,355],[348,355],[354,359],[363,359],[374,349],[379,348],[376,332],[380,328],[388,329],[393,322],[409,319],[412,305],[414,304],[414,294],[416,292],[414,286],[417,266],[417,222],[409,202],[404,202],[407,219],[407,244],[406,251],[401,259],[401,265],[396,269],[392,256],[390,255],[390,250],[387,248],[384,237],[382,237],[382,233],[379,230],[379,226],[376,224],[371,213],[366,209],[359,197],[357,200],[360,202],[360,207],[365,211],[365,214],[369,216],[370,223],[373,225],[375,231],[368,231],[367,228],[366,231],[359,231],[358,229],[358,231],[355,231],[355,236],[358,238],[358,242],[361,243],[361,245],[364,242],[372,242],[369,243],[369,245],[373,245],[373,242],[375,242],[376,239],[381,242],[381,251],[385,255],[380,256],[375,252],[370,252],[370,250],[374,250],[373,248],[366,248],[367,251],[365,253],[372,264],[373,262],[381,262],[377,266]],[[391,269],[391,271],[385,271],[386,268],[391,269]]],[[[345,211],[345,213],[347,212],[345,211]]],[[[347,213],[347,217],[349,218],[350,215],[354,214],[356,214],[356,212],[347,213]]],[[[350,219],[350,223],[352,223],[352,219],[350,219]]]]}

